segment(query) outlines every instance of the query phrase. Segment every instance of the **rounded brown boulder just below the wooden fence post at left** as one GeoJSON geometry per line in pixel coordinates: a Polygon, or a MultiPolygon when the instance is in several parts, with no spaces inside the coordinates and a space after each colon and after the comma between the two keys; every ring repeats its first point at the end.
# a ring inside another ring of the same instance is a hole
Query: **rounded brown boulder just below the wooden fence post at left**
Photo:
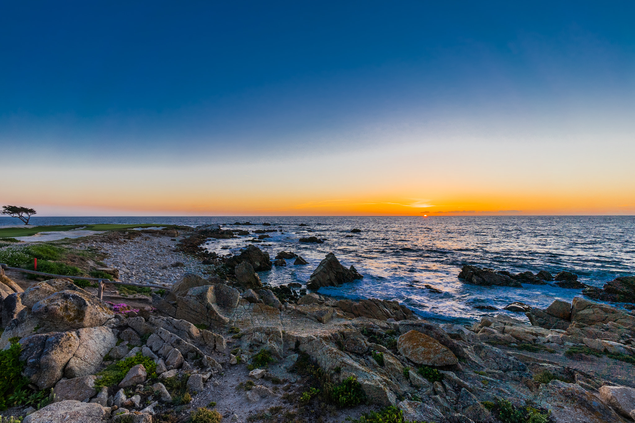
{"type": "Polygon", "coordinates": [[[91,294],[64,290],[34,304],[31,316],[39,327],[50,332],[101,326],[114,313],[91,294]]]}

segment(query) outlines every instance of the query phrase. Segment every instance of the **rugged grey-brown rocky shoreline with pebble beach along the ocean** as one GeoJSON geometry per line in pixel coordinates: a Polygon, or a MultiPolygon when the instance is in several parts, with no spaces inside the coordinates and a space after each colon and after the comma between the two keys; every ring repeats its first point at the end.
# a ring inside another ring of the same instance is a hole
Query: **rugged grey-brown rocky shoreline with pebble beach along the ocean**
{"type": "MultiPolygon", "coordinates": [[[[204,230],[197,233],[235,236],[204,230]]],[[[0,277],[0,346],[5,356],[18,355],[26,378],[6,387],[6,407],[19,402],[17,389],[42,393],[39,403],[4,415],[26,415],[27,423],[323,423],[396,407],[397,422],[635,419],[632,313],[575,298],[546,309],[519,306],[531,325],[505,315],[439,325],[396,301],[264,285],[256,272],[274,264],[255,245],[217,256],[197,251],[196,233],[128,235],[80,242],[104,248],[121,280],[165,283],[145,307],[114,307],[70,280],[21,287],[0,277]],[[138,270],[143,260],[152,271],[138,270]],[[184,266],[171,267],[177,262],[184,266]],[[44,395],[51,388],[55,398],[44,395]]],[[[467,270],[472,282],[501,275],[467,270]]],[[[329,254],[309,288],[359,277],[329,254]]]]}

